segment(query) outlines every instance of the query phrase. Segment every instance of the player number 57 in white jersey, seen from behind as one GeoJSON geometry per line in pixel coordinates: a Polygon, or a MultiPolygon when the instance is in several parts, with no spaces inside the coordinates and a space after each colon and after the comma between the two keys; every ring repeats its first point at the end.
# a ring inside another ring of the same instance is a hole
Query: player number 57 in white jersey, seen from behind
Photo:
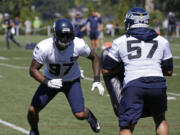
{"type": "MultiPolygon", "coordinates": [[[[103,61],[103,74],[116,74],[124,64],[123,95],[119,104],[120,135],[131,135],[142,117],[151,116],[156,134],[168,135],[166,80],[173,73],[169,42],[149,28],[149,14],[140,7],[125,17],[126,34],[115,39],[103,61]]],[[[120,69],[121,70],[121,69],[120,69]]]]}

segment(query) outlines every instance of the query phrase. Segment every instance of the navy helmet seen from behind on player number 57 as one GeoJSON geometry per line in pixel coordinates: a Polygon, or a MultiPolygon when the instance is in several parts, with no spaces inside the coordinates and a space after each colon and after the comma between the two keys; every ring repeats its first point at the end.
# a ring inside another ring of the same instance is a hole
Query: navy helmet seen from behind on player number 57
{"type": "Polygon", "coordinates": [[[130,9],[125,17],[125,30],[132,28],[147,28],[149,27],[150,17],[145,9],[135,7],[130,9]]]}

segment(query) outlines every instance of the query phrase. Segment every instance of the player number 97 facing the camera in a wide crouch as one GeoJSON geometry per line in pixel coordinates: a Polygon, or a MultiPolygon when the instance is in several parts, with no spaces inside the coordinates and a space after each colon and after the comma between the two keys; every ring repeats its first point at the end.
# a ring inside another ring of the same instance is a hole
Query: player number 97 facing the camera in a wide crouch
{"type": "Polygon", "coordinates": [[[79,56],[92,61],[94,83],[92,90],[98,88],[103,96],[104,87],[100,82],[100,62],[94,51],[83,39],[74,37],[71,22],[59,19],[54,24],[54,36],[37,44],[33,52],[30,75],[40,82],[28,110],[28,122],[31,126],[29,135],[39,135],[39,112],[58,94],[63,92],[70,104],[74,116],[86,119],[94,132],[100,131],[100,125],[94,114],[85,107],[80,85],[79,56]],[[41,67],[46,64],[44,75],[41,67]]]}

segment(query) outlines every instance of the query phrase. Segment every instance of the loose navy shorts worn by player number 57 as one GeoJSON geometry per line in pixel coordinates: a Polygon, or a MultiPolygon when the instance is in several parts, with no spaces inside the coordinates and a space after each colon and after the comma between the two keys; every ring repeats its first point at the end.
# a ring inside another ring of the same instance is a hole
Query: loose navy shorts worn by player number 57
{"type": "Polygon", "coordinates": [[[141,117],[155,116],[166,110],[166,88],[127,87],[120,101],[119,126],[136,124],[141,117]]]}

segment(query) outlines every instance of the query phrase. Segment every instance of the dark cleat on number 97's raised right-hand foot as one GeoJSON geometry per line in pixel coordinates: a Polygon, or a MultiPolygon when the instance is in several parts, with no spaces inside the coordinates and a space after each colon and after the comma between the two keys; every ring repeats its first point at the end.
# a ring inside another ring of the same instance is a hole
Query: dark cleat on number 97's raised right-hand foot
{"type": "Polygon", "coordinates": [[[91,129],[95,132],[98,133],[100,131],[100,124],[96,117],[93,115],[93,113],[89,110],[89,117],[87,119],[88,123],[91,126],[91,129]]]}

